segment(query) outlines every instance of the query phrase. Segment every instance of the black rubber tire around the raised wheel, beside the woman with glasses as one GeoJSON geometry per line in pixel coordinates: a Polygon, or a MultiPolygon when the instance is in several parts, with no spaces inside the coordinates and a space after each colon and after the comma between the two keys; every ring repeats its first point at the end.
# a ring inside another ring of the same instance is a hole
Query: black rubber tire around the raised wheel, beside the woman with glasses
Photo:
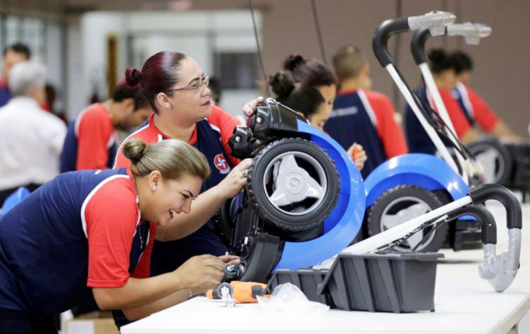
{"type": "Polygon", "coordinates": [[[331,213],[337,203],[340,179],[337,168],[329,155],[315,143],[302,138],[283,138],[273,141],[263,148],[252,161],[248,171],[248,200],[257,214],[268,224],[287,232],[301,232],[315,228],[331,213]],[[268,200],[262,182],[268,164],[279,154],[285,152],[303,152],[313,157],[324,170],[327,190],[324,200],[311,212],[303,215],[286,214],[275,208],[268,200]]]}

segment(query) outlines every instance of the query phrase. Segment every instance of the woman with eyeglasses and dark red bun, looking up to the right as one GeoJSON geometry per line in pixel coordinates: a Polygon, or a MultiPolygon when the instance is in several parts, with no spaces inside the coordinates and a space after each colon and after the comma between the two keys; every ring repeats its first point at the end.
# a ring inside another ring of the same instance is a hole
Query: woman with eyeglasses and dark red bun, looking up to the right
{"type": "MultiPolygon", "coordinates": [[[[195,255],[224,255],[227,247],[215,232],[211,218],[247,182],[250,159],[234,159],[228,145],[239,120],[211,104],[209,77],[195,59],[185,54],[161,51],[147,59],[142,71],[129,67],[126,79],[131,86],[139,86],[154,113],[124,143],[134,138],[147,143],[180,139],[202,152],[212,170],[190,214],[172,212],[171,221],[156,231],[151,275],[172,271],[195,255]]],[[[245,107],[255,108],[256,104],[257,100],[245,107]]],[[[114,168],[128,164],[119,151],[114,168]]]]}

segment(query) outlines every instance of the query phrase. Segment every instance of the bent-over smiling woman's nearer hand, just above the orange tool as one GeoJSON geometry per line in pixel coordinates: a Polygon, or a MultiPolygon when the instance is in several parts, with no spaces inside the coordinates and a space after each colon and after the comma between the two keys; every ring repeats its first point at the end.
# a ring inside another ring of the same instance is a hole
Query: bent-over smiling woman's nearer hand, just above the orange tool
{"type": "Polygon", "coordinates": [[[222,271],[225,265],[217,256],[199,255],[191,257],[173,273],[179,276],[183,289],[192,289],[192,294],[203,294],[221,283],[225,277],[222,271]]]}

